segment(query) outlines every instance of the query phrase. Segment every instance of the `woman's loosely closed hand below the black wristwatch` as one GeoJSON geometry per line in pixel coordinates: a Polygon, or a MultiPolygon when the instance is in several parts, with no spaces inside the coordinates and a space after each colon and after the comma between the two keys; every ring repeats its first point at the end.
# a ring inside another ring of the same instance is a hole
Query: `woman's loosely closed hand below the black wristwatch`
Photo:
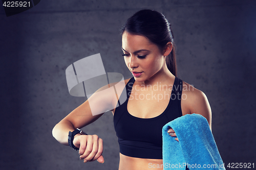
{"type": "Polygon", "coordinates": [[[103,141],[97,135],[80,135],[74,136],[73,143],[79,148],[80,159],[83,162],[95,161],[104,163],[102,156],[103,141]]]}

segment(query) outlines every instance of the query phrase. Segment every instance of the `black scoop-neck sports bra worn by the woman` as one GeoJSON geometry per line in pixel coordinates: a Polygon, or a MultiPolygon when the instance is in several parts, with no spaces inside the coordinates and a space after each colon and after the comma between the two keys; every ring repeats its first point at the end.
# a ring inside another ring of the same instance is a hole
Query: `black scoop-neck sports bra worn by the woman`
{"type": "Polygon", "coordinates": [[[123,90],[121,95],[127,95],[127,100],[114,113],[114,128],[120,153],[136,158],[162,159],[162,127],[182,116],[182,80],[175,78],[168,106],[163,113],[153,118],[135,117],[127,111],[134,81],[131,78],[126,84],[126,91],[123,90]]]}

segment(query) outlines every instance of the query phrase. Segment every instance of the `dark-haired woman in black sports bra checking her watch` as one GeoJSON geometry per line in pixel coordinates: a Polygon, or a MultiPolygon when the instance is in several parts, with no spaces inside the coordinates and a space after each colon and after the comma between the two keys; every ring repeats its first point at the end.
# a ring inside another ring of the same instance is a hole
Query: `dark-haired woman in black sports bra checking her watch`
{"type": "MultiPolygon", "coordinates": [[[[163,169],[159,166],[162,127],[192,113],[203,115],[211,126],[210,106],[202,91],[176,77],[174,37],[163,14],[138,11],[126,21],[121,34],[124,61],[133,78],[125,80],[127,100],[112,109],[120,147],[119,169],[163,169]]],[[[104,109],[117,105],[116,95],[91,98],[104,109]]],[[[53,136],[68,145],[69,132],[91,124],[102,114],[93,116],[86,101],[54,127],[53,136]]],[[[176,136],[173,129],[168,133],[176,136]]],[[[104,162],[102,139],[97,135],[78,133],[72,144],[79,149],[84,162],[104,162]]]]}

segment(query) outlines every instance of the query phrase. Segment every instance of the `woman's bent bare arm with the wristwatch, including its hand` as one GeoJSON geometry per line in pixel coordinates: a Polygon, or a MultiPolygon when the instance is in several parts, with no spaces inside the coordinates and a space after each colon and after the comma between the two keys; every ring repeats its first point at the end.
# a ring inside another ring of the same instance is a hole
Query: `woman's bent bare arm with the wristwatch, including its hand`
{"type": "MultiPolygon", "coordinates": [[[[106,110],[112,110],[117,104],[117,95],[109,86],[97,90],[86,102],[81,104],[52,130],[54,138],[64,145],[68,145],[69,131],[82,128],[97,120],[106,110]]],[[[103,142],[97,135],[74,136],[73,144],[79,148],[80,159],[84,162],[98,160],[104,162],[102,157],[103,142]]]]}

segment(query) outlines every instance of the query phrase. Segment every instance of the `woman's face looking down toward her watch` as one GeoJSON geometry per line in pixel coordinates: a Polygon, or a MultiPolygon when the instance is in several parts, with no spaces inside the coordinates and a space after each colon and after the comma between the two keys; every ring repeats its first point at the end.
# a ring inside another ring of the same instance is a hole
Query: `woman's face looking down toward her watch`
{"type": "Polygon", "coordinates": [[[165,65],[163,52],[144,36],[133,35],[124,31],[122,50],[125,64],[138,82],[150,80],[165,65]]]}

